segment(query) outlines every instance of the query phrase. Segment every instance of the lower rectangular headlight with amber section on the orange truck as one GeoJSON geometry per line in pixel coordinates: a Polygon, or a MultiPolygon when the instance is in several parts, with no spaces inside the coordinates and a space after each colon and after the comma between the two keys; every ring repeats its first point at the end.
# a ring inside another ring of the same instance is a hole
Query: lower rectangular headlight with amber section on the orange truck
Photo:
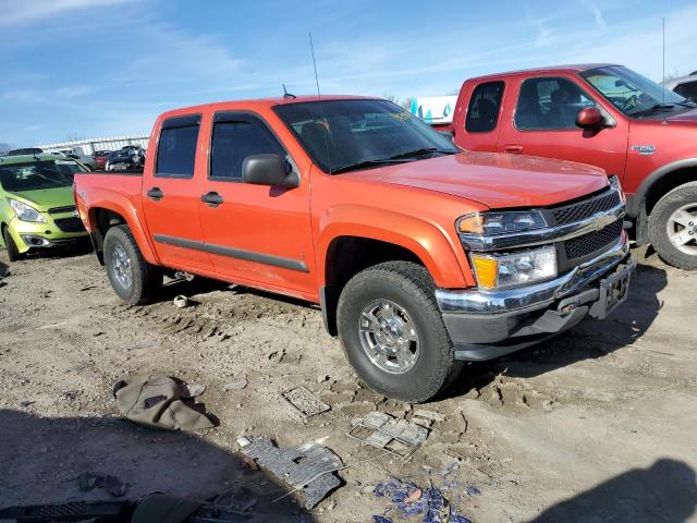
{"type": "Polygon", "coordinates": [[[557,251],[547,246],[512,254],[470,254],[481,289],[529,284],[557,277],[557,251]]]}

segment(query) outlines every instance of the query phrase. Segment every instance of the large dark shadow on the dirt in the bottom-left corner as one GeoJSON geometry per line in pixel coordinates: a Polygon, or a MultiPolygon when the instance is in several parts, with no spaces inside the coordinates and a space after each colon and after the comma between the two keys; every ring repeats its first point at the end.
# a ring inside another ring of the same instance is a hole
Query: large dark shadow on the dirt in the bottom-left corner
{"type": "Polygon", "coordinates": [[[83,472],[110,474],[130,485],[125,498],[159,491],[207,500],[245,487],[258,502],[254,522],[310,522],[288,489],[262,471],[196,435],[150,430],[113,417],[44,418],[0,410],[0,508],[108,500],[108,492],[80,490],[83,472]]]}

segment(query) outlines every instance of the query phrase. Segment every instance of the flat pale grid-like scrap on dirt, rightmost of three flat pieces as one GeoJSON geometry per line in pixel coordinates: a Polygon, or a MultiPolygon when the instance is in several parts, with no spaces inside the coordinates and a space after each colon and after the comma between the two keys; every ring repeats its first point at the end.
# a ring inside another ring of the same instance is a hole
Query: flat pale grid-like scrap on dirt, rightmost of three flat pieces
{"type": "Polygon", "coordinates": [[[426,441],[428,428],[383,412],[371,412],[352,422],[348,436],[406,460],[426,441]]]}

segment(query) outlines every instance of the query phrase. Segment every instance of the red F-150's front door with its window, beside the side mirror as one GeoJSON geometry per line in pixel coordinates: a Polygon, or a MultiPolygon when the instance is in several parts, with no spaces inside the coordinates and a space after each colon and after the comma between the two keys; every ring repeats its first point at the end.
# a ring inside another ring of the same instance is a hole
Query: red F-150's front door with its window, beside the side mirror
{"type": "Polygon", "coordinates": [[[504,107],[500,153],[579,161],[622,179],[626,166],[628,126],[624,119],[601,130],[582,130],[576,117],[584,107],[597,106],[611,113],[572,76],[514,78],[504,107]]]}

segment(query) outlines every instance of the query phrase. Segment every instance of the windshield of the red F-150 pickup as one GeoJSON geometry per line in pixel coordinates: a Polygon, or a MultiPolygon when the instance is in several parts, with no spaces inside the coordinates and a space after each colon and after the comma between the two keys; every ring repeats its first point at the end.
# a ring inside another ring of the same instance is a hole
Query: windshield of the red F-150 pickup
{"type": "Polygon", "coordinates": [[[591,69],[580,76],[628,117],[689,105],[682,96],[621,65],[591,69]]]}

